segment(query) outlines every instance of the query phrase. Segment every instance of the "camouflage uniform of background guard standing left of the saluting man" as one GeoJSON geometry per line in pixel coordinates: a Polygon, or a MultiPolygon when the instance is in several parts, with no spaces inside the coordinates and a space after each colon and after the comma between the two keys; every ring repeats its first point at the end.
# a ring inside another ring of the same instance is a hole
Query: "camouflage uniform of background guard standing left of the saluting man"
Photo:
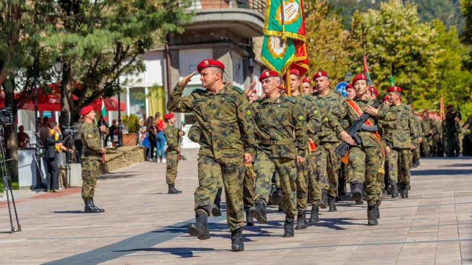
{"type": "Polygon", "coordinates": [[[175,184],[177,177],[177,149],[178,147],[178,135],[179,130],[173,125],[168,125],[164,130],[164,136],[166,136],[167,149],[166,149],[166,182],[167,185],[175,184]]]}

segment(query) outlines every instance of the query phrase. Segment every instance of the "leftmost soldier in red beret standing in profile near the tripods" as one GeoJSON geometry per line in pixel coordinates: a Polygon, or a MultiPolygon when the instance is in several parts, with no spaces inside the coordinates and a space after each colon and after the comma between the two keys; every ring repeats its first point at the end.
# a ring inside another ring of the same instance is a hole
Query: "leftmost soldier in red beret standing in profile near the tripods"
{"type": "Polygon", "coordinates": [[[80,115],[84,118],[84,124],[80,129],[80,138],[84,145],[81,164],[82,199],[85,202],[85,212],[105,212],[105,210],[93,204],[93,195],[95,194],[98,175],[100,175],[100,160],[102,154],[105,154],[105,148],[101,146],[100,132],[108,134],[108,128],[105,125],[97,128],[93,124],[95,111],[93,111],[92,106],[82,108],[80,115]]]}

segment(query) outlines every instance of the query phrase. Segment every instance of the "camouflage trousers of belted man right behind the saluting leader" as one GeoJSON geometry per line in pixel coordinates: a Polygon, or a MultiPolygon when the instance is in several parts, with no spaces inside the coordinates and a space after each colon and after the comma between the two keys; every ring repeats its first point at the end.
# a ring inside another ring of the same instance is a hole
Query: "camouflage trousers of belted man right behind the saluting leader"
{"type": "MultiPolygon", "coordinates": [[[[264,152],[256,155],[254,163],[256,170],[256,185],[254,189],[254,198],[262,199],[268,203],[268,197],[271,187],[272,168],[279,175],[281,187],[282,210],[289,217],[297,214],[296,210],[296,166],[295,159],[291,158],[272,158],[264,152]]],[[[306,199],[305,199],[306,200],[306,199]]]]}

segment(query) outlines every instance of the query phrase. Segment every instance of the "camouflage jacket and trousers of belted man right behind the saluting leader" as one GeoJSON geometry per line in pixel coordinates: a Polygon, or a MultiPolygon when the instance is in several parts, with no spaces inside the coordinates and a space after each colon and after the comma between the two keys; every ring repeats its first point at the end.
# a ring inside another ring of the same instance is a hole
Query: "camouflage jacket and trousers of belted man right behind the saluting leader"
{"type": "Polygon", "coordinates": [[[251,109],[259,142],[254,163],[257,175],[255,198],[267,204],[273,175],[271,167],[275,167],[282,190],[282,210],[287,216],[294,217],[297,215],[295,158],[306,157],[308,142],[303,106],[294,98],[281,95],[258,99],[251,104],[251,109]]]}

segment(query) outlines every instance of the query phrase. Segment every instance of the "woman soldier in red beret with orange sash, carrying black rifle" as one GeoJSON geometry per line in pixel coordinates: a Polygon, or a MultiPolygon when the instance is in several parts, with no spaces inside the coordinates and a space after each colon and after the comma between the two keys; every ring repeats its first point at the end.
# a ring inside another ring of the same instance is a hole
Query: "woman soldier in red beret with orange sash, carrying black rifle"
{"type": "Polygon", "coordinates": [[[362,198],[362,180],[365,181],[366,186],[366,200],[367,200],[367,225],[377,225],[376,216],[379,215],[379,206],[382,200],[381,194],[381,180],[383,177],[384,150],[381,145],[381,140],[378,133],[360,131],[357,132],[360,143],[357,143],[345,131],[352,126],[354,122],[366,112],[370,115],[367,125],[377,125],[379,120],[393,121],[396,118],[396,113],[389,110],[385,104],[374,108],[371,105],[373,100],[367,98],[365,91],[368,88],[367,76],[359,74],[353,80],[355,91],[355,98],[353,100],[344,101],[344,119],[347,123],[341,126],[339,123],[331,123],[330,126],[341,136],[341,138],[348,143],[351,148],[349,150],[349,163],[353,169],[353,198],[360,200],[362,198]]]}

